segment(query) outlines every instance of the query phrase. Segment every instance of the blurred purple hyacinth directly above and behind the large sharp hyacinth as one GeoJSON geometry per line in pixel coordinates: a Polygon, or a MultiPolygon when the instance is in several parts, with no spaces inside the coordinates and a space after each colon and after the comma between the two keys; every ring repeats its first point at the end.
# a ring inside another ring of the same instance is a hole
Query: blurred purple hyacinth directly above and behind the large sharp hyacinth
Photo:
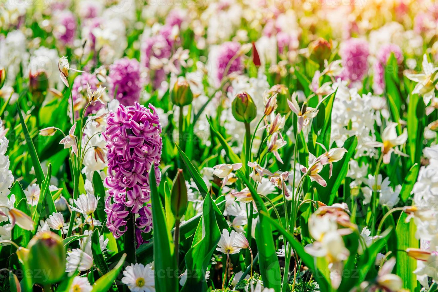
{"type": "Polygon", "coordinates": [[[123,58],[109,66],[109,94],[123,105],[133,105],[140,99],[144,80],[141,77],[140,63],[136,59],[123,58]]]}

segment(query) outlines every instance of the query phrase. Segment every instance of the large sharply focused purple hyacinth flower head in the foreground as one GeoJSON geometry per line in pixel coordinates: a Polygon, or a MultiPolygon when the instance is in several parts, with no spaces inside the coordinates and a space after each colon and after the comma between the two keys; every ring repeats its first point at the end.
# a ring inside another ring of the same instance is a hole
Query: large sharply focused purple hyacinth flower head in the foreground
{"type": "Polygon", "coordinates": [[[129,213],[138,214],[135,233],[138,244],[141,244],[141,233],[152,229],[151,206],[145,205],[150,199],[151,167],[155,170],[157,183],[161,180],[159,117],[152,104],[149,104],[149,108],[137,102],[127,107],[120,104],[117,111],[109,113],[106,124],[103,133],[108,149],[106,226],[115,238],[119,238],[127,230],[126,218],[129,213]]]}

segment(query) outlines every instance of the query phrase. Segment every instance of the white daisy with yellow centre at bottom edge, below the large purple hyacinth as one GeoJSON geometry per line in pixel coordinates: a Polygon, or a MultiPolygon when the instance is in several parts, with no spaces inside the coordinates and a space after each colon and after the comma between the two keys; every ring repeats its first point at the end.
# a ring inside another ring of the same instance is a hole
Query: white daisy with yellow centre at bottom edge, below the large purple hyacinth
{"type": "Polygon", "coordinates": [[[155,292],[155,271],[151,264],[131,264],[123,271],[122,283],[134,292],[155,292]]]}

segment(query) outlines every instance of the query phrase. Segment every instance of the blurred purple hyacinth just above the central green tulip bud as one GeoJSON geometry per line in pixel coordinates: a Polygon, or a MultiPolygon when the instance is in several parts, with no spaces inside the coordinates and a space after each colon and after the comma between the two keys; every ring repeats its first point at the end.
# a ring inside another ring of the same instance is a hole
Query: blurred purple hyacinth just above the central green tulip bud
{"type": "Polygon", "coordinates": [[[238,42],[224,42],[220,46],[218,58],[216,60],[216,66],[218,69],[216,77],[219,82],[224,75],[239,72],[241,70],[242,64],[240,56],[235,57],[239,50],[240,44],[238,42]]]}

